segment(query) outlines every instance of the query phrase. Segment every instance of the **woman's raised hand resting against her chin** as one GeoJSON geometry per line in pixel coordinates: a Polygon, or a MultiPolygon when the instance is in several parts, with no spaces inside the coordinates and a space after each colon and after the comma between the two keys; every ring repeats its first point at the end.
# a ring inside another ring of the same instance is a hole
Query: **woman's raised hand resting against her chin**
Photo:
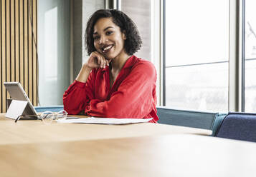
{"type": "Polygon", "coordinates": [[[85,64],[87,67],[91,69],[95,68],[101,68],[105,69],[105,66],[109,66],[111,60],[105,59],[105,57],[100,54],[98,51],[93,51],[92,54],[90,54],[89,59],[85,64]]]}

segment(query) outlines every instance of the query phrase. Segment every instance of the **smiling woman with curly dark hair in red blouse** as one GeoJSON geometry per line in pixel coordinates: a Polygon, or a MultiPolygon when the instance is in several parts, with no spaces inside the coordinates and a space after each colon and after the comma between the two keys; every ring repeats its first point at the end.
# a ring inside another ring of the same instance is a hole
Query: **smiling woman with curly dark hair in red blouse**
{"type": "Polygon", "coordinates": [[[63,95],[67,113],[156,123],[156,69],[133,55],[142,43],[133,21],[118,10],[95,11],[85,42],[89,59],[63,95]]]}

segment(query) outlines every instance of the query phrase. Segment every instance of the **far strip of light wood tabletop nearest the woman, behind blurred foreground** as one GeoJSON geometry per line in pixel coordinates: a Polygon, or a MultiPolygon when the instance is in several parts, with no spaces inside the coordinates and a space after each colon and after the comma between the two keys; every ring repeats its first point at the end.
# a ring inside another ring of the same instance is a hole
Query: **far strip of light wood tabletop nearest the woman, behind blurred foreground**
{"type": "Polygon", "coordinates": [[[0,144],[80,141],[109,138],[153,136],[170,133],[211,135],[212,131],[160,123],[134,123],[128,125],[101,125],[85,123],[57,123],[24,121],[0,117],[0,144]]]}

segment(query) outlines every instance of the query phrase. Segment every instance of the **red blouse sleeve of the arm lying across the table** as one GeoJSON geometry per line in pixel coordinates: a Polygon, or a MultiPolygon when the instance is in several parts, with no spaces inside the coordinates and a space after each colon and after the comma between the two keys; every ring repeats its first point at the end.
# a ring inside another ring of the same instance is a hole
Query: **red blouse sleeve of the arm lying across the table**
{"type": "Polygon", "coordinates": [[[90,116],[109,118],[145,118],[156,106],[156,69],[150,62],[133,66],[108,101],[92,99],[85,108],[90,116]]]}

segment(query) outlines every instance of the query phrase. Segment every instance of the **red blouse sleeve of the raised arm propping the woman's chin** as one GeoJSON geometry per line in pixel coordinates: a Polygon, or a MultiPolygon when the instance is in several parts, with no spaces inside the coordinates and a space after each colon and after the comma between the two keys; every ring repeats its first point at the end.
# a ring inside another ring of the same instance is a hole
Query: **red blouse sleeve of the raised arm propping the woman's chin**
{"type": "Polygon", "coordinates": [[[93,97],[93,71],[86,83],[74,81],[63,94],[63,106],[69,114],[79,114],[85,111],[85,106],[93,97]]]}

